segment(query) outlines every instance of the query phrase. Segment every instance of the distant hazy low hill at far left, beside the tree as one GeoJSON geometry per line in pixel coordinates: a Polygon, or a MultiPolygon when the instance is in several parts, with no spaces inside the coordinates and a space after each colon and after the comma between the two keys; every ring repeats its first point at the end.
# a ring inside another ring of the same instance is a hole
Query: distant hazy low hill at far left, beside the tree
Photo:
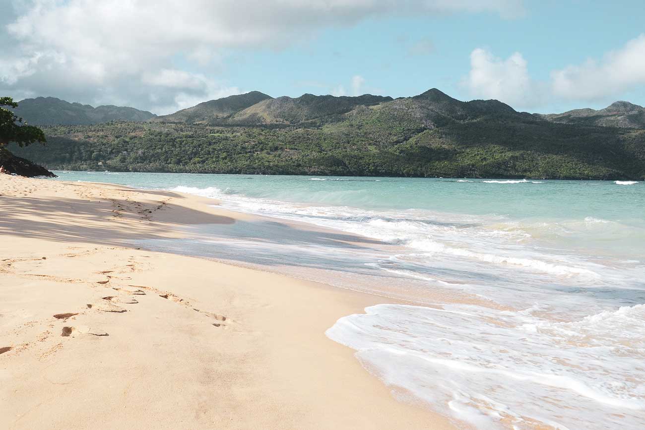
{"type": "Polygon", "coordinates": [[[99,106],[69,103],[55,97],[37,97],[18,102],[14,112],[26,122],[37,126],[98,124],[108,121],[148,121],[154,113],[122,106],[99,106]]]}

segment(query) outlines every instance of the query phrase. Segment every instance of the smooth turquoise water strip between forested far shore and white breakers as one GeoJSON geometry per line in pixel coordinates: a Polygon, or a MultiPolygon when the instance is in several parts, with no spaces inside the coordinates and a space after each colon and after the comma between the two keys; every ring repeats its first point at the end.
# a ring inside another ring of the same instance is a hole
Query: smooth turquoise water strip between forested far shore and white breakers
{"type": "Polygon", "coordinates": [[[261,199],[353,206],[369,210],[440,210],[514,218],[594,215],[643,221],[645,182],[535,181],[208,175],[192,173],[55,172],[64,181],[111,182],[141,188],[217,187],[225,194],[261,199]]]}

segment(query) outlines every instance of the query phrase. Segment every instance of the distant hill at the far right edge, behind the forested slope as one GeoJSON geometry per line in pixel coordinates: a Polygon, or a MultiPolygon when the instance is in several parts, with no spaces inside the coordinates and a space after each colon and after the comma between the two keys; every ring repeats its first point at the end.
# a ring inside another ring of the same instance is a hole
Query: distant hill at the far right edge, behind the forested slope
{"type": "Polygon", "coordinates": [[[564,113],[548,113],[539,117],[552,122],[602,127],[645,128],[645,108],[626,101],[611,103],[604,109],[575,109],[564,113]]]}

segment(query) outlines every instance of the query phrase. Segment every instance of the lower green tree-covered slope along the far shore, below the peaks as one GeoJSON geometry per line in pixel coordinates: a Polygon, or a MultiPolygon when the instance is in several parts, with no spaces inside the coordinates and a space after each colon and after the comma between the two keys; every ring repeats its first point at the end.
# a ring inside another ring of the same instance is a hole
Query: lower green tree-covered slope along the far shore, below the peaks
{"type": "Polygon", "coordinates": [[[530,115],[523,121],[479,117],[423,129],[359,117],[309,128],[57,126],[45,128],[46,150],[18,153],[68,170],[645,179],[644,130],[552,124],[530,115]]]}

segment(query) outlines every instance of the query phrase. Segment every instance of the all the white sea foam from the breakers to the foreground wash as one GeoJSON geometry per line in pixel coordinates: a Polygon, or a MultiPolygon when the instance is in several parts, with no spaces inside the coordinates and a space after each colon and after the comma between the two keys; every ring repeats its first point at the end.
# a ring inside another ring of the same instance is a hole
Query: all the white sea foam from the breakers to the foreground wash
{"type": "MultiPolygon", "coordinates": [[[[233,210],[396,244],[401,253],[365,264],[403,277],[401,288],[408,278],[515,309],[534,304],[523,311],[466,304],[437,304],[439,309],[378,305],[364,315],[341,318],[328,337],[356,349],[366,369],[398,387],[401,398],[408,393],[479,428],[509,423],[517,429],[645,426],[645,308],[603,310],[593,300],[619,288],[642,290],[639,263],[605,264],[535,246],[532,237],[550,231],[568,242],[608,229],[615,234],[624,228],[621,224],[589,215],[527,223],[501,215],[307,206],[226,195],[215,187],[175,190],[221,199],[233,210]],[[598,293],[585,292],[590,289],[598,293]]],[[[360,256],[343,258],[347,264],[360,256]]]]}

